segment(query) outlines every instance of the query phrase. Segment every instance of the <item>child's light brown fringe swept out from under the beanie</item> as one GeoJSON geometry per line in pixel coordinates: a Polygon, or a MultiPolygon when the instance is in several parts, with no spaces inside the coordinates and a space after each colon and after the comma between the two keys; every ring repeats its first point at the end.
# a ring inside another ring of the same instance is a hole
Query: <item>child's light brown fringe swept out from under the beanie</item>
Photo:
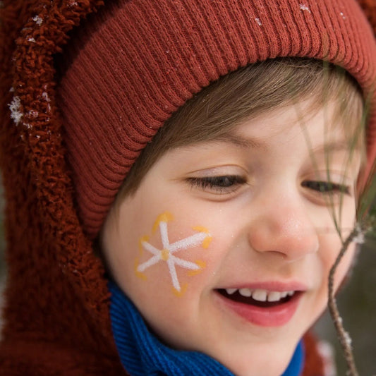
{"type": "Polygon", "coordinates": [[[147,171],[167,150],[220,139],[245,119],[308,97],[312,99],[311,112],[335,100],[335,116],[341,116],[345,126],[351,125],[351,134],[357,131],[357,143],[363,142],[363,99],[351,75],[339,66],[314,59],[269,59],[219,78],[178,109],[142,150],[116,202],[137,190],[147,171]]]}

